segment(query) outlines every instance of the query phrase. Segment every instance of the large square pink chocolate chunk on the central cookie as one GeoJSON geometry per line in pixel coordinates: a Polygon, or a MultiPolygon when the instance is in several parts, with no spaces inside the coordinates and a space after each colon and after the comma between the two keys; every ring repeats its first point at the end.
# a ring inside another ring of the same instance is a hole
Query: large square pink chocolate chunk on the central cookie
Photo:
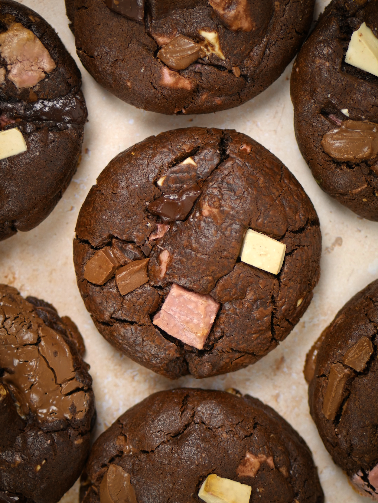
{"type": "Polygon", "coordinates": [[[173,284],[152,322],[170,336],[202,349],[219,306],[211,295],[190,292],[173,284]]]}

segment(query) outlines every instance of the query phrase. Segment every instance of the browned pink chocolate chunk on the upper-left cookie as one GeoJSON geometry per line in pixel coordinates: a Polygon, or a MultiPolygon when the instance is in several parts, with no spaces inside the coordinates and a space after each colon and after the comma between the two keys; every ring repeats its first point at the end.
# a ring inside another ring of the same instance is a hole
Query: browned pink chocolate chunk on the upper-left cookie
{"type": "Polygon", "coordinates": [[[0,34],[0,52],[8,63],[8,78],[17,88],[32,88],[52,71],[56,64],[33,32],[21,23],[13,23],[0,34]]]}

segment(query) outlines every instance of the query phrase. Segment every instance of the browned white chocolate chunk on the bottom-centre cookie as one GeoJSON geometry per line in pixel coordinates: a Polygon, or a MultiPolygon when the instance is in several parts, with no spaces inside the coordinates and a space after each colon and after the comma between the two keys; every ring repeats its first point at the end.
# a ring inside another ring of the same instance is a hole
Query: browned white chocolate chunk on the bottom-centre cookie
{"type": "Polygon", "coordinates": [[[206,503],[249,503],[251,491],[250,485],[212,474],[204,481],[198,495],[206,503]]]}

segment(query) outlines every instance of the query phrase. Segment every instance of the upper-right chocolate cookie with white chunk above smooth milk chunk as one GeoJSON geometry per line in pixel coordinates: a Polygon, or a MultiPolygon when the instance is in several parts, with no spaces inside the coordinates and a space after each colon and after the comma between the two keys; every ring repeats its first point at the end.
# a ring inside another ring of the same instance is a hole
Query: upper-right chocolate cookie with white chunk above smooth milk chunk
{"type": "Polygon", "coordinates": [[[358,61],[364,60],[359,51],[365,37],[378,45],[377,26],[375,0],[333,0],[299,52],[291,79],[297,141],[315,180],[341,204],[375,221],[378,78],[358,61]],[[369,34],[362,39],[363,24],[369,34]]]}

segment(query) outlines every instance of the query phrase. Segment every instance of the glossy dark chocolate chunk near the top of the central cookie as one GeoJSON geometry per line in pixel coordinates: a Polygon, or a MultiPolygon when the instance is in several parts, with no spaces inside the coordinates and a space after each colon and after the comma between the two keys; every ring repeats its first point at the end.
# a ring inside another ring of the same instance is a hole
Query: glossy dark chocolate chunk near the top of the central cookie
{"type": "Polygon", "coordinates": [[[158,215],[162,222],[184,220],[201,192],[201,190],[191,189],[176,194],[165,194],[155,199],[147,208],[153,215],[158,215]]]}

